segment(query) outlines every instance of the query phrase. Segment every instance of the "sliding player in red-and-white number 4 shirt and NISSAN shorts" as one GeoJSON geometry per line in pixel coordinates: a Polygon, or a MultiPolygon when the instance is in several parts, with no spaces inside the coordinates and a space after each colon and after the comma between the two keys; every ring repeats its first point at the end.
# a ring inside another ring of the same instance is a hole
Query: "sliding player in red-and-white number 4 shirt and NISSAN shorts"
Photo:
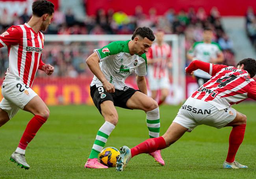
{"type": "Polygon", "coordinates": [[[232,126],[228,155],[223,168],[248,168],[235,161],[237,150],[243,142],[247,117],[233,109],[231,105],[247,98],[256,100],[256,82],[252,79],[256,74],[256,61],[251,58],[243,59],[237,67],[234,67],[196,60],[185,71],[192,75],[192,72],[197,69],[210,74],[211,79],[187,99],[163,136],[145,140],[132,149],[122,146],[121,155],[117,161],[117,171],[122,171],[135,155],[167,148],[186,131],[191,131],[201,124],[217,129],[232,126]]]}

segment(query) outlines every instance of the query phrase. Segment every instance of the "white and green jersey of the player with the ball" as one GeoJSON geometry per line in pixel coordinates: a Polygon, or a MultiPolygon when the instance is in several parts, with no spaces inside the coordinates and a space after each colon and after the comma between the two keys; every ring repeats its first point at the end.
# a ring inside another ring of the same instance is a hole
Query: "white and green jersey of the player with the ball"
{"type": "MultiPolygon", "coordinates": [[[[128,41],[115,41],[96,49],[100,59],[100,69],[109,83],[112,83],[115,89],[122,90],[126,86],[125,79],[135,72],[138,76],[147,75],[147,58],[145,54],[131,55],[128,48],[128,41]]],[[[102,86],[100,80],[94,76],[91,86],[102,86]]]]}

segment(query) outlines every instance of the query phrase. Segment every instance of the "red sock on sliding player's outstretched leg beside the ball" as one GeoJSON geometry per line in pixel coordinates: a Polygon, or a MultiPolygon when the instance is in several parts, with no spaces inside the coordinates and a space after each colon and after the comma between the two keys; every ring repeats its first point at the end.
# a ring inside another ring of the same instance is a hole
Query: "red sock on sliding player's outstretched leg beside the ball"
{"type": "Polygon", "coordinates": [[[131,149],[132,157],[139,155],[140,153],[151,153],[156,150],[166,148],[166,142],[163,137],[149,138],[139,145],[131,149]]]}

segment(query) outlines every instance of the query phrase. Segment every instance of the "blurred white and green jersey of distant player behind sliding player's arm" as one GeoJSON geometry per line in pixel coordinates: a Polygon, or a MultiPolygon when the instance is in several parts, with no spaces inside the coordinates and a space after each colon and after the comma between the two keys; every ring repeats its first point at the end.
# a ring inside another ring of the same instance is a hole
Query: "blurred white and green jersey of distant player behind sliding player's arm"
{"type": "MultiPolygon", "coordinates": [[[[217,55],[221,53],[221,47],[216,42],[211,42],[210,44],[204,42],[195,42],[188,53],[200,61],[210,63],[211,58],[217,58],[217,55]]],[[[211,78],[208,73],[200,69],[196,70],[194,75],[200,78],[211,78]]]]}

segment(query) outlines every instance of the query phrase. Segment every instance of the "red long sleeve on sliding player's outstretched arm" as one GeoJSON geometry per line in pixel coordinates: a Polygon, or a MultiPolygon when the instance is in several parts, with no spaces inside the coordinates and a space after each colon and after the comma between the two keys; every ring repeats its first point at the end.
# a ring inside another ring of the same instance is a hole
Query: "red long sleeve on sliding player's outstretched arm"
{"type": "Polygon", "coordinates": [[[206,63],[203,61],[195,60],[192,61],[189,66],[186,68],[187,73],[191,73],[197,69],[203,70],[206,73],[214,76],[217,72],[219,72],[222,68],[227,67],[226,65],[213,65],[212,63],[206,63]]]}

